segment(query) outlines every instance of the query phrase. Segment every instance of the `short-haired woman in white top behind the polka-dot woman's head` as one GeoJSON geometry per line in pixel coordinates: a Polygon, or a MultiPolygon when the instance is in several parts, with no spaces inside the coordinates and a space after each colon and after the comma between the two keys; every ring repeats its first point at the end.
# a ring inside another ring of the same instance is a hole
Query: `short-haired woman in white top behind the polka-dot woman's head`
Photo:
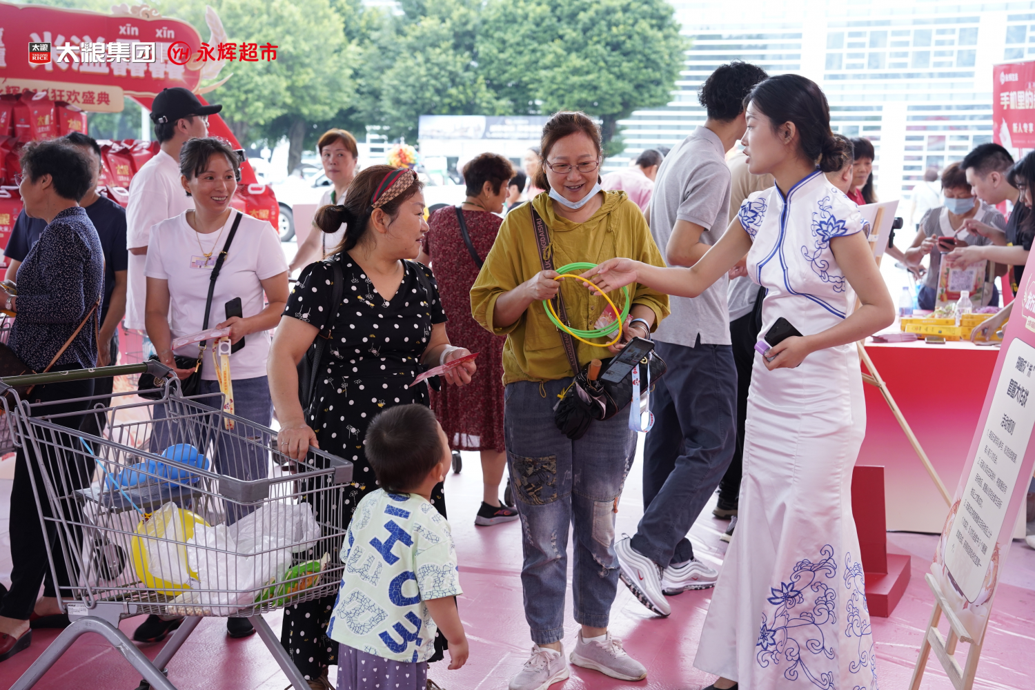
{"type": "MultiPolygon", "coordinates": [[[[356,177],[356,162],[359,160],[359,147],[356,146],[356,138],[345,129],[328,129],[317,142],[317,150],[320,152],[320,162],[323,163],[324,174],[333,185],[320,198],[318,208],[342,204],[345,201],[346,190],[352,184],[352,178],[356,177]]],[[[299,245],[288,270],[294,273],[297,269],[304,268],[315,261],[326,259],[328,254],[334,252],[335,247],[344,239],[345,226],[333,233],[325,233],[314,222],[308,236],[299,245]]]]}

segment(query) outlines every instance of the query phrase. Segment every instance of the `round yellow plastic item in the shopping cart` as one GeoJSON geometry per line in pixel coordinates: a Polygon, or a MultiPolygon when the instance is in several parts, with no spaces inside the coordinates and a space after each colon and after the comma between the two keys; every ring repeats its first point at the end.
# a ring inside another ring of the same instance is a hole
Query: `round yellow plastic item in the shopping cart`
{"type": "MultiPolygon", "coordinates": [[[[164,579],[164,573],[179,570],[187,575],[182,579],[197,578],[198,573],[190,570],[187,565],[187,553],[185,542],[194,537],[195,526],[208,522],[200,515],[191,513],[189,510],[177,508],[176,504],[167,503],[158,511],[145,516],[137,526],[137,535],[130,540],[132,548],[132,565],[137,571],[137,576],[144,582],[144,587],[161,594],[177,595],[183,590],[189,590],[189,582],[175,582],[164,579]],[[149,543],[148,543],[149,542],[149,543]],[[151,548],[148,548],[148,546],[151,548]],[[150,563],[149,552],[158,550],[159,554],[165,554],[169,563],[150,563]],[[173,562],[176,563],[173,563],[173,562]],[[158,575],[155,575],[157,572],[158,575]]],[[[168,576],[168,575],[167,575],[168,576]]]]}

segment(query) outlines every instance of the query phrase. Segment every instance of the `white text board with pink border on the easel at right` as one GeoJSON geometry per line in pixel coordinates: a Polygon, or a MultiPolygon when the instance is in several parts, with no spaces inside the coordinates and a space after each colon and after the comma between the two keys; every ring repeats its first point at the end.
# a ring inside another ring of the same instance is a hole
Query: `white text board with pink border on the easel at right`
{"type": "Polygon", "coordinates": [[[1029,257],[930,571],[980,643],[1035,466],[1035,259],[1029,257]]]}

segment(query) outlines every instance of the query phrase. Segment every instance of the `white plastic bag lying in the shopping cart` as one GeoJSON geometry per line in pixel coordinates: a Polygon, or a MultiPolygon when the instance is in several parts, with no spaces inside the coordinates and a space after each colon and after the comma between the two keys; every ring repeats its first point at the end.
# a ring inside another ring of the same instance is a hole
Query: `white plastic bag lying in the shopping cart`
{"type": "Polygon", "coordinates": [[[250,605],[262,588],[321,537],[307,503],[269,503],[234,524],[198,526],[186,553],[197,581],[173,600],[173,612],[229,616],[250,605]]]}

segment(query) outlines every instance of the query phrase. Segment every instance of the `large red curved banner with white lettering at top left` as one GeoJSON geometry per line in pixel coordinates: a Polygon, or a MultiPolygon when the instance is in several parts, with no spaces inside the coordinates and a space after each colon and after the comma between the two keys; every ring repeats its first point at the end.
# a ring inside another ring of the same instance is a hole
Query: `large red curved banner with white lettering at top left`
{"type": "MultiPolygon", "coordinates": [[[[73,83],[80,85],[80,92],[84,85],[95,85],[100,87],[98,92],[108,88],[118,90],[119,96],[122,92],[154,96],[173,86],[194,91],[204,63],[191,60],[177,64],[179,60],[169,59],[169,48],[175,44],[196,55],[202,42],[198,31],[186,22],[159,17],[147,7],[134,9],[137,13],[119,16],[0,2],[0,89],[11,86],[21,91],[30,88],[27,82],[42,81],[73,83]],[[77,48],[82,43],[125,43],[127,56],[153,61],[81,62],[61,56],[60,48],[66,42],[77,48]],[[36,43],[37,50],[38,43],[50,43],[50,61],[30,62],[30,43],[36,43]],[[138,56],[134,43],[154,43],[154,52],[142,51],[138,56]],[[59,57],[63,59],[59,61],[59,57]]],[[[82,100],[76,104],[85,110],[111,110],[92,108],[93,103],[82,100]]],[[[121,99],[115,110],[122,110],[121,99]]]]}

